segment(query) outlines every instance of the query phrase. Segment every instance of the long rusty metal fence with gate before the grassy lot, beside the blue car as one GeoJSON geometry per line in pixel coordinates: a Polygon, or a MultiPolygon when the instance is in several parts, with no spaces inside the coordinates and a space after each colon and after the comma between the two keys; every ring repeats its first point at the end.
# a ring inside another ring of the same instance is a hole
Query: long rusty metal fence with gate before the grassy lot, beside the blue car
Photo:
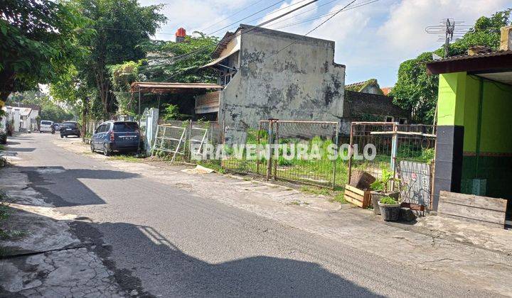
{"type": "Polygon", "coordinates": [[[322,187],[346,183],[347,162],[332,160],[326,155],[326,148],[338,143],[336,122],[265,120],[257,127],[250,127],[244,123],[171,121],[159,125],[158,132],[154,155],[167,156],[172,161],[196,162],[216,170],[322,187]],[[223,158],[193,160],[190,150],[194,143],[210,145],[214,150],[222,145],[223,158]],[[178,150],[178,146],[181,149],[178,150]],[[250,158],[250,146],[257,158],[250,158]],[[302,158],[297,154],[301,146],[307,148],[302,158]],[[290,148],[297,152],[290,152],[290,148]],[[315,153],[314,159],[304,158],[315,153]]]}

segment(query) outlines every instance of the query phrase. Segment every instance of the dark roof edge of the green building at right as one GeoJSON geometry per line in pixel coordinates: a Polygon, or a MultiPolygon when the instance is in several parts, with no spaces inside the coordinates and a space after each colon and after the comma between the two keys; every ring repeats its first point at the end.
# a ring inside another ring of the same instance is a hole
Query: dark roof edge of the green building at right
{"type": "Polygon", "coordinates": [[[498,50],[491,53],[459,55],[427,63],[430,75],[449,72],[489,72],[512,69],[512,50],[498,50]]]}

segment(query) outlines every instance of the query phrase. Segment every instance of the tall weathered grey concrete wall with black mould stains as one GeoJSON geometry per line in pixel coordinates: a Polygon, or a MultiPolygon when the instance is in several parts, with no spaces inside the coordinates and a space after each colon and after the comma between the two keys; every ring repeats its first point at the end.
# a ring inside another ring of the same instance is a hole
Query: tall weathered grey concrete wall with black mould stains
{"type": "Polygon", "coordinates": [[[267,118],[340,121],[345,67],[334,63],[333,41],[257,28],[242,35],[240,49],[239,71],[221,95],[220,121],[252,127],[267,118]]]}

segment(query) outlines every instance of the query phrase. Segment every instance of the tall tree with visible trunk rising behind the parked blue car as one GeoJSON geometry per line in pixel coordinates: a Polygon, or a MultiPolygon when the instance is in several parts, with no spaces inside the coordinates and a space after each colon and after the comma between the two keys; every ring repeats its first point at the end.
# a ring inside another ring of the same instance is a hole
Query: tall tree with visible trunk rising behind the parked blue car
{"type": "Polygon", "coordinates": [[[140,6],[137,0],[75,2],[83,15],[92,20],[96,31],[92,39],[82,40],[90,48],[90,55],[75,65],[77,76],[89,87],[95,87],[103,114],[108,116],[115,109],[108,66],[144,57],[138,45],[148,42],[166,17],[158,13],[161,5],[140,6]]]}

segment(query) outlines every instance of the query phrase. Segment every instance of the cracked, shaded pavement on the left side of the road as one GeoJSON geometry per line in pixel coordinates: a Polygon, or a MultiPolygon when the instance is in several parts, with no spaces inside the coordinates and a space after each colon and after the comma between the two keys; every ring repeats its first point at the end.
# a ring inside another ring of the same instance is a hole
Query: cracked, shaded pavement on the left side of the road
{"type": "Polygon", "coordinates": [[[0,189],[15,202],[6,228],[25,234],[0,240],[0,297],[127,297],[137,292],[119,287],[94,247],[73,236],[68,223],[74,215],[60,214],[44,202],[17,167],[0,173],[0,189]]]}

